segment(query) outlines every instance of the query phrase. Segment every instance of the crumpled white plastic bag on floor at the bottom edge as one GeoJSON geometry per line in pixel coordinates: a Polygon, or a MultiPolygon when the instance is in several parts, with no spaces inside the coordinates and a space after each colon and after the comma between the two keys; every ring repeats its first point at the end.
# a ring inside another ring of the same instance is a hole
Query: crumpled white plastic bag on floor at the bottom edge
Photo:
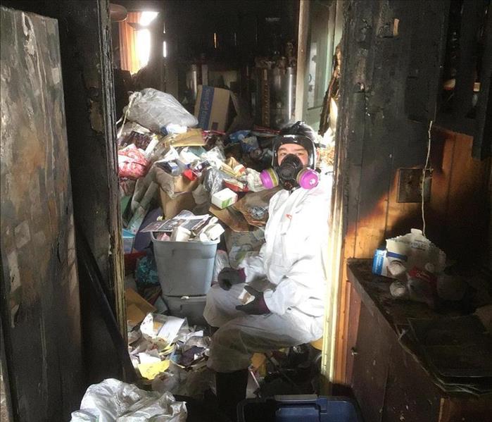
{"type": "Polygon", "coordinates": [[[184,402],[170,392],[148,392],[114,378],[90,385],[70,422],[186,422],[184,402]]]}

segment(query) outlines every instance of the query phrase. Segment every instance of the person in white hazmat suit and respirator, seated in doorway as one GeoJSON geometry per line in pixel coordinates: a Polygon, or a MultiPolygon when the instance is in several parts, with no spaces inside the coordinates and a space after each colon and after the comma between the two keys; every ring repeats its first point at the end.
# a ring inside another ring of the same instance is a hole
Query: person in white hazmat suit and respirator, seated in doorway
{"type": "Polygon", "coordinates": [[[208,294],[206,321],[212,337],[208,367],[216,372],[219,407],[232,420],[246,396],[254,352],[301,345],[322,337],[331,179],[315,172],[315,132],[301,122],[273,142],[267,188],[280,185],[268,208],[265,244],[238,268],[224,268],[208,294]],[[252,302],[241,304],[244,289],[252,302]]]}

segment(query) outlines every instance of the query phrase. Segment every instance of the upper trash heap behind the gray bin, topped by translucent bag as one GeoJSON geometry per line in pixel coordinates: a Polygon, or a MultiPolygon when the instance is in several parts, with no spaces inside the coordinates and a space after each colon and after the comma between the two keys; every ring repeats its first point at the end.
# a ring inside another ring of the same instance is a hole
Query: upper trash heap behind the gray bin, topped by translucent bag
{"type": "MultiPolygon", "coordinates": [[[[244,214],[248,224],[265,224],[267,202],[275,192],[259,194],[264,190],[260,171],[270,167],[272,139],[278,132],[254,127],[225,133],[196,125],[196,117],[170,94],[149,88],[130,96],[118,131],[120,196],[127,239],[137,235],[156,199],[165,218],[172,218],[182,209],[203,214],[210,206],[218,211],[254,197],[236,210],[244,214]]],[[[229,223],[224,216],[217,217],[229,223]]],[[[242,231],[248,230],[246,226],[242,231]]],[[[125,245],[131,252],[132,242],[125,245]]]]}

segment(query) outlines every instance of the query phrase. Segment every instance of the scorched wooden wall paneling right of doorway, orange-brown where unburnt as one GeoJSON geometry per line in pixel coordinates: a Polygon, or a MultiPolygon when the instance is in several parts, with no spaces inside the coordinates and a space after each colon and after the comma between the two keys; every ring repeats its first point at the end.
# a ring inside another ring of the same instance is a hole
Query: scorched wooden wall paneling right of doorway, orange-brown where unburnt
{"type": "MultiPolygon", "coordinates": [[[[348,182],[336,383],[350,383],[349,354],[351,339],[357,337],[360,306],[347,285],[346,259],[372,258],[386,238],[422,228],[420,203],[396,201],[398,169],[423,168],[427,154],[429,120],[410,120],[411,101],[405,102],[405,96],[411,91],[408,78],[415,75],[420,87],[437,90],[447,11],[448,0],[419,1],[418,7],[408,1],[346,1],[338,145],[346,151],[339,171],[348,182]],[[398,35],[393,37],[386,28],[395,19],[398,35]],[[419,58],[419,49],[426,51],[425,60],[419,58]],[[362,100],[356,99],[356,92],[362,92],[362,100]]],[[[427,94],[422,104],[431,108],[437,92],[427,94]]],[[[432,110],[412,108],[412,117],[425,116],[431,118],[432,110]]],[[[490,161],[472,159],[471,147],[472,138],[436,127],[432,131],[434,171],[431,200],[425,204],[426,232],[451,257],[471,258],[487,248],[490,161]],[[465,249],[466,254],[460,253],[465,249]]]]}

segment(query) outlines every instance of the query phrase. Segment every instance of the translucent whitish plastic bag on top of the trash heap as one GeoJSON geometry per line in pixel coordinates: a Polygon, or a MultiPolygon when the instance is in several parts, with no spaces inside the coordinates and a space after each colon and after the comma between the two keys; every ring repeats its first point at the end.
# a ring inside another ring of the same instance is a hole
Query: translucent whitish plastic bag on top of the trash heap
{"type": "Polygon", "coordinates": [[[189,113],[171,94],[160,92],[157,89],[146,88],[130,95],[130,107],[125,108],[127,118],[140,125],[160,132],[170,123],[187,126],[198,125],[196,117],[189,113]]]}

